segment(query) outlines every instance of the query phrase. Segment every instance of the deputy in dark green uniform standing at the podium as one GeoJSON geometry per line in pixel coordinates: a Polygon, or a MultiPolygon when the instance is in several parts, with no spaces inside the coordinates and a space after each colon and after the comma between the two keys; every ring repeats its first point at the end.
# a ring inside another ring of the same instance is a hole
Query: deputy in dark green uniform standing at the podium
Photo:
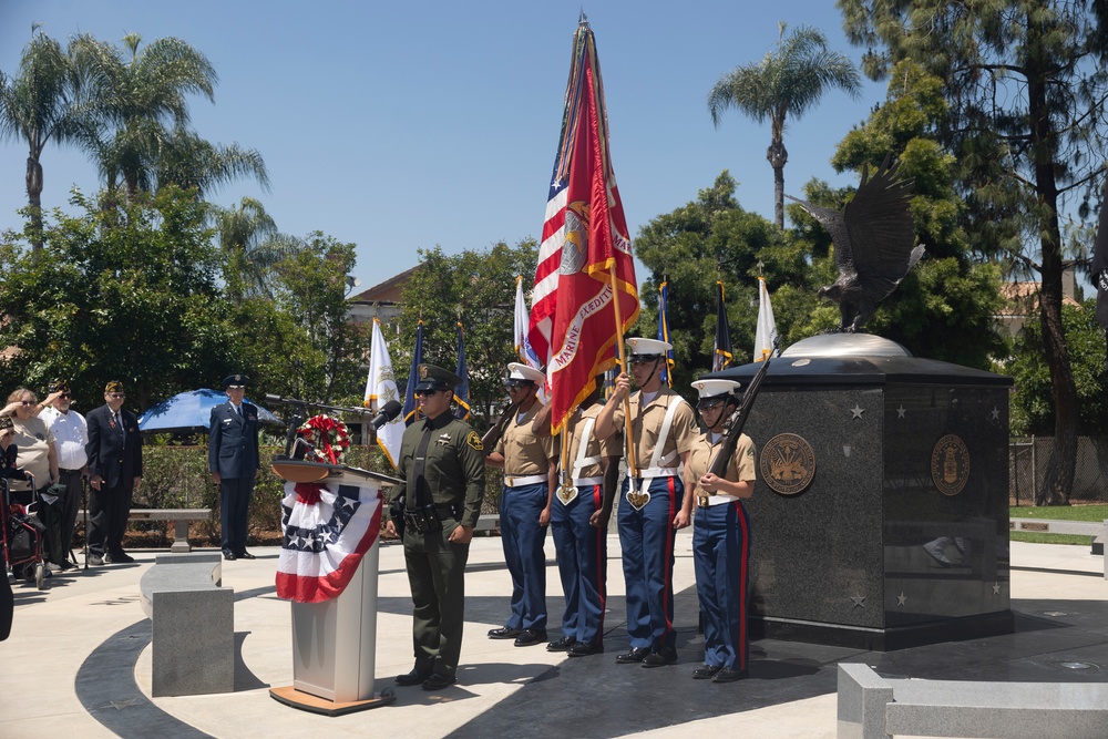
{"type": "Polygon", "coordinates": [[[386,531],[402,526],[412,589],[416,666],[398,685],[452,685],[462,650],[465,561],[484,495],[481,438],[450,410],[460,377],[420,365],[416,396],[422,420],[404,430],[386,531]],[[402,524],[400,523],[402,521],[402,524]]]}

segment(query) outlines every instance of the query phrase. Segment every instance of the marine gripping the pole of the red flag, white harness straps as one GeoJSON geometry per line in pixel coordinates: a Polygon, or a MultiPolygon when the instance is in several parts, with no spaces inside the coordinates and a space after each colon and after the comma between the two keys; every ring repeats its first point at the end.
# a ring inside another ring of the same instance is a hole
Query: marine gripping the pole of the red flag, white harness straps
{"type": "MultiPolygon", "coordinates": [[[[639,388],[629,396],[630,439],[624,440],[635,478],[628,474],[624,481],[618,510],[630,649],[616,661],[660,667],[677,661],[674,544],[676,530],[689,524],[681,506],[685,484],[678,465],[688,458],[698,430],[693,408],[661,381],[671,345],[633,338],[627,346],[639,388]]],[[[630,378],[620,372],[596,418],[597,438],[626,429],[624,399],[628,393],[630,378]]]]}

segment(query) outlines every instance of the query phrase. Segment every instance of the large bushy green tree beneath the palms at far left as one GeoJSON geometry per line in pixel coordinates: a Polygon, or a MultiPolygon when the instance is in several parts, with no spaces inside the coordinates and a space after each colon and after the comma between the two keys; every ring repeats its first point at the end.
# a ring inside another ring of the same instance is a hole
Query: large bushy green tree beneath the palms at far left
{"type": "Polygon", "coordinates": [[[18,348],[0,365],[8,389],[66,377],[96,404],[119,379],[142,409],[222,377],[234,361],[204,205],[172,187],[136,195],[121,218],[72,202],[82,213],[54,212],[40,258],[24,248],[30,227],[3,239],[0,345],[18,348]]]}

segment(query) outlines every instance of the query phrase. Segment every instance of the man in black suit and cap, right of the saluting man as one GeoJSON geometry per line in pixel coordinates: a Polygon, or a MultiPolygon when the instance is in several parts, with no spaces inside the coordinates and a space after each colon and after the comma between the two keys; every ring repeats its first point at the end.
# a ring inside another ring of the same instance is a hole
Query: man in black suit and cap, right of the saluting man
{"type": "Polygon", "coordinates": [[[89,412],[89,564],[134,560],[123,551],[131,496],[142,482],[138,420],[123,410],[123,383],[104,388],[104,404],[89,412]]]}

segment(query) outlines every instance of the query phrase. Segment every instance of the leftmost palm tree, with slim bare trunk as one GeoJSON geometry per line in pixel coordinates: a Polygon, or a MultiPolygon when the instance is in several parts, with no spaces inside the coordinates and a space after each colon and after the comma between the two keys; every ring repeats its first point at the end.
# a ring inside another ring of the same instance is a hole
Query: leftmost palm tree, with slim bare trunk
{"type": "Polygon", "coordinates": [[[27,201],[34,254],[42,248],[42,151],[51,138],[58,143],[75,141],[85,113],[78,101],[70,54],[38,25],[32,27],[18,74],[8,78],[0,72],[0,138],[28,143],[27,201]]]}

